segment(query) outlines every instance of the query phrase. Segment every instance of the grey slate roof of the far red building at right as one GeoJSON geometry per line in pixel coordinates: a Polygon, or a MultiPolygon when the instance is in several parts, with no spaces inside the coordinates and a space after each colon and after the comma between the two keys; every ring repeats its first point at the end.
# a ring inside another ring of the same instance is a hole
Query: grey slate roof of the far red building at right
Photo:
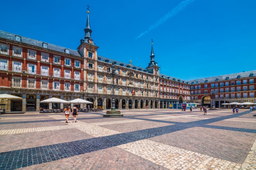
{"type": "Polygon", "coordinates": [[[240,75],[240,78],[245,78],[245,77],[250,77],[251,74],[252,74],[252,76],[256,76],[256,70],[245,71],[245,72],[240,72],[240,73],[233,73],[233,74],[225,74],[225,75],[207,77],[207,78],[202,78],[202,79],[189,80],[188,82],[189,82],[189,84],[191,84],[192,82],[194,82],[194,84],[195,84],[197,81],[197,84],[200,84],[200,83],[205,83],[206,80],[207,80],[207,82],[216,82],[216,79],[218,81],[224,81],[224,80],[226,80],[227,77],[228,77],[228,80],[232,80],[232,79],[239,79],[239,77],[237,77],[239,75],[240,75]]]}

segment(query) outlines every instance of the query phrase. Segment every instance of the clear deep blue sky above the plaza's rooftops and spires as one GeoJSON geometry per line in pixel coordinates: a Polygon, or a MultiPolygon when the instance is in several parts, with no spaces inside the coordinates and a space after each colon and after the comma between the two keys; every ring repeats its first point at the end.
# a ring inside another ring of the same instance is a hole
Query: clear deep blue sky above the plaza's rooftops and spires
{"type": "Polygon", "coordinates": [[[0,30],[76,49],[87,4],[98,55],[147,67],[153,38],[162,74],[192,80],[256,69],[255,0],[4,1],[0,30]]]}

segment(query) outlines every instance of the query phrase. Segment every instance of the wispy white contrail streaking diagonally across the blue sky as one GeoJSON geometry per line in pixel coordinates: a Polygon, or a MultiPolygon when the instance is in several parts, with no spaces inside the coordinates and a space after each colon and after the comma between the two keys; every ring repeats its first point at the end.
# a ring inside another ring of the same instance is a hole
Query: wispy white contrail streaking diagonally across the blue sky
{"type": "Polygon", "coordinates": [[[146,34],[150,30],[152,30],[152,29],[156,28],[157,26],[163,24],[163,22],[166,21],[168,18],[177,15],[180,11],[184,10],[193,1],[195,1],[195,0],[184,0],[184,1],[180,2],[180,4],[178,4],[176,7],[174,7],[171,11],[169,11],[167,14],[165,14],[162,18],[160,18],[153,25],[150,25],[146,31],[142,32],[135,39],[140,38],[142,35],[146,34]]]}

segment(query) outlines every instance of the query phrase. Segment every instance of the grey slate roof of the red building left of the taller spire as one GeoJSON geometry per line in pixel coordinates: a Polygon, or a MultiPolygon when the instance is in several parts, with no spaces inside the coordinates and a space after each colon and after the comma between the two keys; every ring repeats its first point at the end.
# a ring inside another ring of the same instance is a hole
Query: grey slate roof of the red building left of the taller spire
{"type": "Polygon", "coordinates": [[[47,49],[49,49],[49,50],[65,53],[65,49],[68,49],[69,54],[75,55],[77,57],[81,57],[81,55],[76,50],[72,50],[72,49],[69,49],[69,48],[62,47],[62,46],[56,46],[54,44],[50,44],[50,43],[43,42],[43,41],[38,41],[36,39],[27,38],[27,37],[23,37],[23,36],[20,36],[20,35],[17,35],[17,34],[13,34],[13,33],[9,33],[9,32],[5,32],[5,31],[0,30],[0,37],[1,38],[16,41],[15,36],[21,37],[20,42],[25,43],[25,44],[29,44],[29,45],[32,45],[32,46],[43,47],[43,43],[46,43],[47,44],[47,49]]]}

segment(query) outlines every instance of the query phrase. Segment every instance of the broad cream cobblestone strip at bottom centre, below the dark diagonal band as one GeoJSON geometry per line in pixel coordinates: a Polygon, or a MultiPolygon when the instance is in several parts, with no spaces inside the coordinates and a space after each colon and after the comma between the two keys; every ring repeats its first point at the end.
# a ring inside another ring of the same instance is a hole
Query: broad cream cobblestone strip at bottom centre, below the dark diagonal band
{"type": "Polygon", "coordinates": [[[209,168],[238,170],[241,167],[241,164],[213,158],[208,155],[157,143],[147,139],[119,145],[118,147],[157,165],[173,170],[209,168]]]}

